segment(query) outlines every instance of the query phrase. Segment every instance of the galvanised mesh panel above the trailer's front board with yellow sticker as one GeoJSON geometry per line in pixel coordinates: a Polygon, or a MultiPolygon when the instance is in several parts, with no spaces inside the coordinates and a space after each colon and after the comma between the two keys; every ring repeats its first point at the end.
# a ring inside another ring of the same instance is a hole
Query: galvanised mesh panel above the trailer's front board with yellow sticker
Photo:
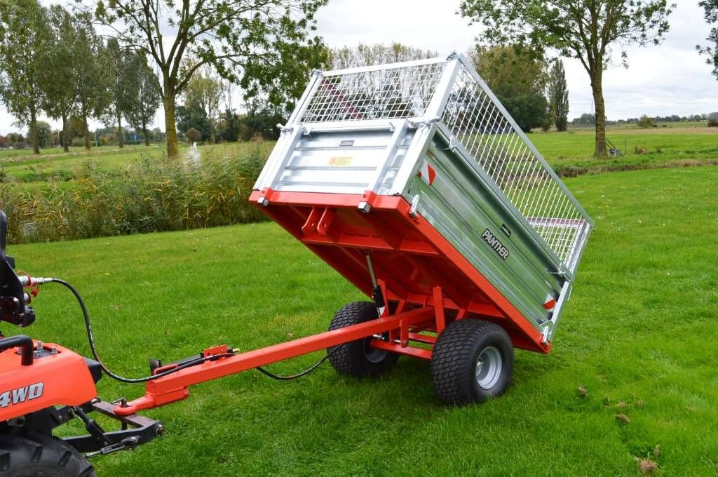
{"type": "Polygon", "coordinates": [[[446,63],[322,76],[304,123],[424,115],[446,63]]]}

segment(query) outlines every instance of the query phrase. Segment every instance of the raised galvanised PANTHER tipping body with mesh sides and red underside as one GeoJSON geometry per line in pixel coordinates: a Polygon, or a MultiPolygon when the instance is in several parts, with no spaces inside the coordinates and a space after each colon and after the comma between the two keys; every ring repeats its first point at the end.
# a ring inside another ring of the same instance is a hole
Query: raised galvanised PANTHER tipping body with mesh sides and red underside
{"type": "Polygon", "coordinates": [[[315,72],[254,189],[368,295],[373,265],[393,307],[440,287],[542,352],[593,226],[462,55],[315,72]]]}

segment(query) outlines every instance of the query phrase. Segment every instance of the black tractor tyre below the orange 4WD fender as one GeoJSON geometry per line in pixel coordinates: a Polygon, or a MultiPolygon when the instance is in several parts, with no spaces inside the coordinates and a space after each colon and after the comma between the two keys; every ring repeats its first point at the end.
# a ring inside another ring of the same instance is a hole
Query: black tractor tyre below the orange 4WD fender
{"type": "Polygon", "coordinates": [[[57,437],[0,434],[0,477],[96,477],[90,463],[57,437]]]}

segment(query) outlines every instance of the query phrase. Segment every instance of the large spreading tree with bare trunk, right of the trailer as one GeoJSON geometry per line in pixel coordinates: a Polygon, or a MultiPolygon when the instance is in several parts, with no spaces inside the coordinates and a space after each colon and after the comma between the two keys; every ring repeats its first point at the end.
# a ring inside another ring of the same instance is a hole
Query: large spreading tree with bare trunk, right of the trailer
{"type": "Polygon", "coordinates": [[[539,52],[551,47],[582,63],[596,107],[595,157],[607,157],[603,72],[612,48],[621,49],[628,65],[623,48],[658,44],[672,9],[666,0],[462,0],[460,5],[463,16],[485,27],[482,41],[517,42],[539,52]]]}

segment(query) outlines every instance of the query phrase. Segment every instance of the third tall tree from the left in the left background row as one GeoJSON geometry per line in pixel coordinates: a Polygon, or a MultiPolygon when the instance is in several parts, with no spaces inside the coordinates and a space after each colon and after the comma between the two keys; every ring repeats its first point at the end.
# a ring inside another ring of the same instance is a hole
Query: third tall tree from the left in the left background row
{"type": "Polygon", "coordinates": [[[100,117],[106,113],[112,101],[110,56],[102,40],[95,32],[90,17],[80,14],[77,24],[75,55],[75,78],[78,87],[78,114],[82,119],[85,149],[90,150],[89,117],[100,117]]]}

